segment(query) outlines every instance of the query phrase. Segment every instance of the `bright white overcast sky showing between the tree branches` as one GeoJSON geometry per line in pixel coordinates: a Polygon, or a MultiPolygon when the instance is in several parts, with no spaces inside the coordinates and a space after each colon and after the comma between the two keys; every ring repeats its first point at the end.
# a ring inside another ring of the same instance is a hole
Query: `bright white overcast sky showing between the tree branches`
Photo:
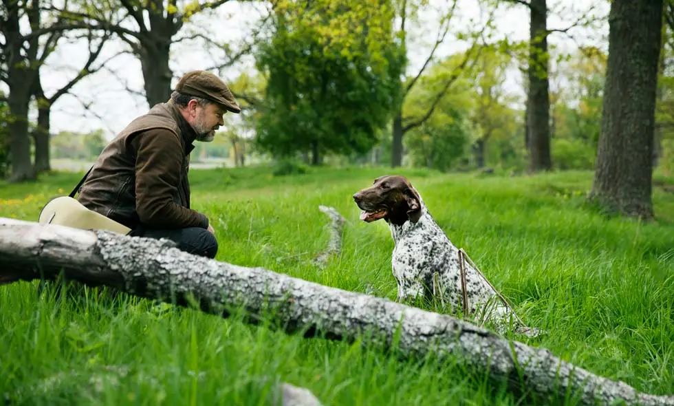
{"type": "MultiPolygon", "coordinates": [[[[448,8],[453,0],[431,0],[430,5],[419,13],[419,23],[412,28],[409,39],[409,74],[418,72],[428,56],[432,43],[437,35],[437,16],[448,8]],[[437,10],[441,10],[438,12],[437,10]]],[[[476,30],[479,22],[486,18],[478,0],[457,0],[457,15],[451,21],[450,34],[460,31],[476,30]],[[482,12],[482,14],[481,14],[482,12]]],[[[552,29],[567,28],[573,25],[579,16],[587,15],[591,10],[599,17],[608,13],[606,0],[548,0],[550,13],[548,27],[552,29]],[[593,8],[594,5],[594,8],[593,8]]],[[[177,37],[189,35],[191,32],[208,34],[222,43],[238,44],[250,35],[252,26],[263,14],[261,6],[251,3],[230,1],[215,12],[195,16],[191,23],[177,37]]],[[[495,18],[497,37],[505,37],[511,41],[522,41],[529,36],[529,16],[525,6],[513,5],[499,8],[495,18]]],[[[578,44],[592,44],[607,51],[607,23],[601,23],[598,29],[574,28],[570,35],[554,33],[549,38],[551,45],[562,50],[573,50],[578,44]]],[[[466,41],[458,41],[455,36],[448,38],[439,47],[438,56],[452,54],[468,47],[466,41]]],[[[105,61],[104,69],[80,81],[73,89],[72,95],[60,98],[52,107],[52,132],[58,131],[94,131],[102,129],[110,139],[122,130],[136,116],[149,109],[142,96],[142,71],[140,61],[131,54],[118,53],[124,50],[124,43],[112,41],[104,48],[98,61],[105,61]]],[[[47,65],[42,68],[43,87],[47,96],[62,87],[83,67],[88,56],[87,43],[76,41],[61,43],[57,50],[47,58],[47,65]]],[[[183,41],[173,45],[171,50],[171,69],[173,85],[184,72],[195,69],[207,69],[217,62],[219,55],[210,52],[206,47],[193,41],[183,41]]],[[[100,62],[95,65],[100,65],[100,62]]],[[[221,72],[224,81],[232,81],[242,72],[253,69],[252,58],[232,66],[221,72]]],[[[510,72],[506,81],[510,92],[524,95],[522,76],[517,70],[510,72]]],[[[553,84],[554,86],[554,84],[553,84]]],[[[3,87],[6,89],[6,87],[3,87]]],[[[36,111],[32,111],[32,117],[36,111]]],[[[226,116],[226,126],[236,125],[236,118],[226,116]]]]}

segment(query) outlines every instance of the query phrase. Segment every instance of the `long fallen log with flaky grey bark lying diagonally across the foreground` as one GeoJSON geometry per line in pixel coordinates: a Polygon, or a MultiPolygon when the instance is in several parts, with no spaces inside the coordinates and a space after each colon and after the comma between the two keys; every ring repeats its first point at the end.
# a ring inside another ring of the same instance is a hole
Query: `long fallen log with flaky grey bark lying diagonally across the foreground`
{"type": "Polygon", "coordinates": [[[543,348],[509,341],[476,325],[388,299],[330,288],[264,268],[248,268],[184,253],[167,240],[0,219],[0,284],[67,279],[106,285],[140,297],[228,317],[243,309],[257,323],[270,310],[288,334],[363,340],[410,359],[457,356],[517,393],[581,404],[674,405],[674,396],[638,392],[597,376],[543,348]],[[366,334],[370,333],[370,334],[366,334]]]}

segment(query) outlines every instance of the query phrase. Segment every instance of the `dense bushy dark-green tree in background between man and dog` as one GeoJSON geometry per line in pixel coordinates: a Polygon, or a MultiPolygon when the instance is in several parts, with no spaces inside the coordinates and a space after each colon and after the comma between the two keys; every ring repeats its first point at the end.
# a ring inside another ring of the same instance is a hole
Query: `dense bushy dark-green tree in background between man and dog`
{"type": "Polygon", "coordinates": [[[272,39],[256,56],[267,76],[257,146],[310,153],[312,164],[371,149],[400,94],[392,19],[380,0],[276,3],[272,39]]]}

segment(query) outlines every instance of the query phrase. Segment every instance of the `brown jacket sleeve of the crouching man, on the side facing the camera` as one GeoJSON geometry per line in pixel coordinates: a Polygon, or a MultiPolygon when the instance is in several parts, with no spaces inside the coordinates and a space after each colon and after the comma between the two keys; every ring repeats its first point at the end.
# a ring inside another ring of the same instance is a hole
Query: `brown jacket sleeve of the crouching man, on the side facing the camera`
{"type": "Polygon", "coordinates": [[[168,129],[151,129],[134,141],[135,211],[140,221],[161,228],[208,228],[206,215],[173,201],[183,160],[178,136],[168,129]]]}

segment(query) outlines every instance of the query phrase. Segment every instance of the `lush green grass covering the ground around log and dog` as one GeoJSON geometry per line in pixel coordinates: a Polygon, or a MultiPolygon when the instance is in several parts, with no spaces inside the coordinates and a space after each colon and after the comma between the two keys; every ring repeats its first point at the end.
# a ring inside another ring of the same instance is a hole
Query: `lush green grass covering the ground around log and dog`
{"type": "MultiPolygon", "coordinates": [[[[351,195],[390,169],[193,171],[193,206],[212,219],[217,259],[395,298],[383,222],[358,221],[351,195]],[[343,253],[318,271],[327,217],[347,217],[343,253]]],[[[591,173],[483,177],[400,170],[440,226],[525,321],[530,341],[653,394],[674,387],[674,199],[658,220],[606,218],[583,206],[591,173]]],[[[35,221],[81,173],[0,184],[0,217],[35,221]],[[61,189],[61,191],[59,191],[61,189]]],[[[91,295],[91,290],[86,290],[91,295]]],[[[263,405],[274,379],[324,405],[517,404],[453,361],[404,361],[359,345],[301,339],[235,319],[122,295],[64,300],[37,284],[0,287],[0,396],[30,405],[263,405]],[[264,378],[268,380],[265,381],[264,378]]],[[[572,402],[569,402],[572,404],[572,402]]]]}

